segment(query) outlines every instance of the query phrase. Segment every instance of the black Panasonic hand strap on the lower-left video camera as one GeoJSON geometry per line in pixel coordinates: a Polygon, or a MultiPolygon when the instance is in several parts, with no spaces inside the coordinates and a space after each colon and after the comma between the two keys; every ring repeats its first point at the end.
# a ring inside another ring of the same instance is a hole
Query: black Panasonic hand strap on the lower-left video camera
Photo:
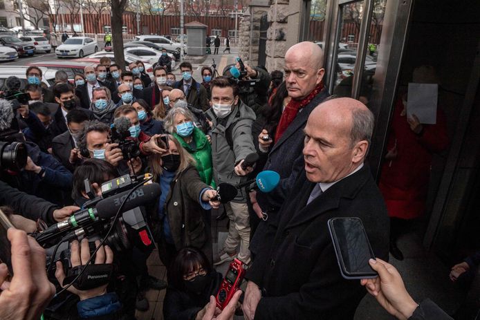
{"type": "MultiPolygon", "coordinates": [[[[84,265],[77,265],[68,270],[63,285],[71,283],[80,274],[84,265]]],[[[72,285],[77,290],[90,290],[109,283],[113,274],[113,264],[103,263],[100,265],[87,265],[86,270],[72,285]]]]}

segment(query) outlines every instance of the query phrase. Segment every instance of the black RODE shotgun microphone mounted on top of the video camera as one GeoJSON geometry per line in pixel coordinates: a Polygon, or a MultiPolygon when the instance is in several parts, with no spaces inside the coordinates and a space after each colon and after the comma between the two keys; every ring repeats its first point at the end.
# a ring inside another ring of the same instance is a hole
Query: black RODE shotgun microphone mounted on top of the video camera
{"type": "MultiPolygon", "coordinates": [[[[45,229],[45,231],[41,234],[49,234],[65,229],[71,229],[72,227],[77,227],[78,225],[83,225],[86,222],[96,220],[97,218],[113,218],[113,216],[117,214],[118,208],[129,192],[130,190],[123,191],[115,196],[100,200],[95,208],[77,211],[70,218],[56,223],[55,225],[50,225],[50,227],[45,229]]],[[[158,183],[151,183],[149,185],[139,187],[133,191],[131,196],[129,196],[122,210],[128,211],[135,207],[140,207],[142,205],[146,205],[147,203],[154,202],[160,196],[160,192],[160,185],[158,185],[158,183]]]]}

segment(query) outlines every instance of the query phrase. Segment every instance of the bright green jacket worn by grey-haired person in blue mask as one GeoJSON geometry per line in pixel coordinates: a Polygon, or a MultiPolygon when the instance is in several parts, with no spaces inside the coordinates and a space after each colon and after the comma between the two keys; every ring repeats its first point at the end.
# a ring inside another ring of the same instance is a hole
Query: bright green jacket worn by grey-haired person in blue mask
{"type": "Polygon", "coordinates": [[[213,180],[213,166],[212,166],[212,146],[208,142],[205,134],[197,127],[194,127],[192,132],[194,142],[196,144],[196,150],[192,150],[190,144],[187,144],[183,138],[174,133],[176,140],[180,142],[182,147],[190,153],[196,161],[196,170],[199,171],[200,179],[202,182],[210,185],[213,189],[216,188],[215,181],[213,180]]]}

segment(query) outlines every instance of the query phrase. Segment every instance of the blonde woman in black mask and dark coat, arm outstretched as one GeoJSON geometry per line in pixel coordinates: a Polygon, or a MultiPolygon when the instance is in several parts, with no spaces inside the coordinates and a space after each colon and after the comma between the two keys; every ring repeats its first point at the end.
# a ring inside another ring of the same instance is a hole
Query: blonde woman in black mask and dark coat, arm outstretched
{"type": "Polygon", "coordinates": [[[160,260],[169,265],[176,252],[189,245],[211,257],[210,230],[205,227],[203,210],[219,207],[216,191],[202,182],[194,158],[172,135],[161,135],[157,143],[165,152],[151,155],[149,164],[162,190],[151,215],[160,260]]]}

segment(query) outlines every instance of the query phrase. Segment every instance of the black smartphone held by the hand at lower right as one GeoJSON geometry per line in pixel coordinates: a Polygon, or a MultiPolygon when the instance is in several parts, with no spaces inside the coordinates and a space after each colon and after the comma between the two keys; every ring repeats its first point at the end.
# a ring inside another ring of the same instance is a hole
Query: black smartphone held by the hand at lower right
{"type": "Polygon", "coordinates": [[[369,265],[375,258],[360,218],[331,218],[329,231],[344,279],[369,279],[378,276],[369,265]]]}

